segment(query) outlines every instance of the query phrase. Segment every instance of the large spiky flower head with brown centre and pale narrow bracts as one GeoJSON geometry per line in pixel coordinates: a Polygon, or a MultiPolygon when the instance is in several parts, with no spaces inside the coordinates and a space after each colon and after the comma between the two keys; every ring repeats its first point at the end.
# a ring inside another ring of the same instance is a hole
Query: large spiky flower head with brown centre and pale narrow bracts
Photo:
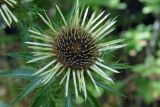
{"type": "Polygon", "coordinates": [[[105,15],[105,11],[94,12],[88,18],[89,7],[80,8],[77,0],[70,18],[66,19],[57,5],[56,8],[63,25],[56,28],[46,13],[45,17],[38,13],[51,32],[45,33],[45,30],[41,32],[35,28],[29,30],[32,41],[25,43],[32,49],[35,58],[27,63],[47,63],[33,74],[41,77],[42,85],[57,79],[58,84],[64,84],[66,97],[73,86],[76,98],[82,93],[86,99],[88,80],[99,92],[97,76],[108,84],[113,83],[113,80],[107,72],[119,73],[105,64],[103,53],[122,48],[126,44],[119,44],[122,39],[102,42],[113,31],[116,23],[114,19],[107,19],[109,14],[105,15]]]}

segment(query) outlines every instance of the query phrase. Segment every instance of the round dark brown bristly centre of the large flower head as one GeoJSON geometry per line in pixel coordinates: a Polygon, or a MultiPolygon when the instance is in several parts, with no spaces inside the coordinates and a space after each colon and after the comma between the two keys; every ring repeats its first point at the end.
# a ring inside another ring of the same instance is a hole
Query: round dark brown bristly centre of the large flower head
{"type": "Polygon", "coordinates": [[[87,69],[98,55],[95,39],[80,28],[61,30],[54,47],[58,61],[74,70],[87,69]]]}

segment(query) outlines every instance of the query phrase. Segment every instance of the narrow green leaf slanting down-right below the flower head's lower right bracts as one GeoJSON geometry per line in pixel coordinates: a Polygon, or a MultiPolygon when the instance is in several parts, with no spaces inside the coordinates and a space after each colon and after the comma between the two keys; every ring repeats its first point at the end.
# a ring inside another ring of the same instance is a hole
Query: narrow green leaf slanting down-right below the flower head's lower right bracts
{"type": "Polygon", "coordinates": [[[105,84],[105,83],[100,83],[100,82],[97,82],[97,81],[96,81],[96,84],[97,84],[98,86],[102,87],[103,89],[112,92],[113,94],[116,94],[116,95],[120,95],[120,96],[125,97],[125,95],[121,94],[120,92],[118,92],[117,90],[113,89],[112,87],[110,87],[109,85],[107,85],[107,84],[105,84]]]}

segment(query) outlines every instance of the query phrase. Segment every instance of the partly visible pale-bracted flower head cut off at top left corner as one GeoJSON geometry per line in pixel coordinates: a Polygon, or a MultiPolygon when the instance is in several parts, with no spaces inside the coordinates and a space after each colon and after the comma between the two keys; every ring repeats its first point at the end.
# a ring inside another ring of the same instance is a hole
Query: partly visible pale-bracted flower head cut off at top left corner
{"type": "Polygon", "coordinates": [[[9,27],[13,21],[18,22],[13,12],[8,8],[8,6],[14,8],[15,5],[17,5],[17,1],[15,0],[0,0],[0,18],[2,17],[9,27]]]}

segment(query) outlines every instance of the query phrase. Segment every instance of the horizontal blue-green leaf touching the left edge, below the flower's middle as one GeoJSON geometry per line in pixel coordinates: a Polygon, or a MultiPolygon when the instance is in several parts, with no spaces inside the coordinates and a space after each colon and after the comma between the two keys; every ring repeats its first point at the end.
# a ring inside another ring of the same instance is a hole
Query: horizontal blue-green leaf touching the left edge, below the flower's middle
{"type": "Polygon", "coordinates": [[[0,77],[12,77],[12,78],[33,78],[33,70],[16,69],[13,71],[2,71],[0,77]]]}

